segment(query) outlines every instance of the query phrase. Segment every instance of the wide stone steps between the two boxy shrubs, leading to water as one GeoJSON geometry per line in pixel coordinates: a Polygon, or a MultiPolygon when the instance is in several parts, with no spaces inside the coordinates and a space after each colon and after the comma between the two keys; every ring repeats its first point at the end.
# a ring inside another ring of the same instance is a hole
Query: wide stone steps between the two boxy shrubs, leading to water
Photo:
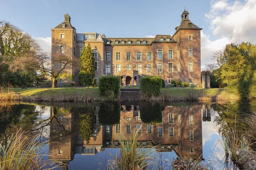
{"type": "Polygon", "coordinates": [[[140,100],[139,88],[121,88],[120,100],[140,100]]]}

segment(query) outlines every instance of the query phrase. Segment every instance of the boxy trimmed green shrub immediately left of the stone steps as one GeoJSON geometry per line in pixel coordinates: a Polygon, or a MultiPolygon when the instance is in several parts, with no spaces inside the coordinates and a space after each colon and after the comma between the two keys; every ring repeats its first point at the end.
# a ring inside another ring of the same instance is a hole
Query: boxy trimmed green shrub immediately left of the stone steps
{"type": "Polygon", "coordinates": [[[120,78],[119,76],[99,77],[99,93],[107,98],[115,98],[119,95],[120,78]]]}

